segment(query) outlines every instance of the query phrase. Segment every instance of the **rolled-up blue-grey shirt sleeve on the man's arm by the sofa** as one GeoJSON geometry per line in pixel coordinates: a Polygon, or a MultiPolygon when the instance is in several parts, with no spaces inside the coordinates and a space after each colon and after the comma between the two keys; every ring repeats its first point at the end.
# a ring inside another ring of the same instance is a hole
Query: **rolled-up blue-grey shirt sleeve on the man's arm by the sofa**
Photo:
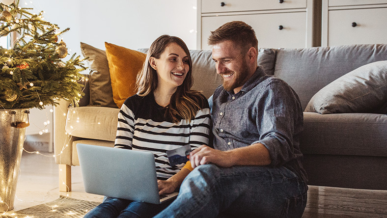
{"type": "Polygon", "coordinates": [[[259,140],[268,150],[272,166],[283,165],[294,158],[294,133],[302,130],[302,109],[298,97],[285,82],[267,84],[265,100],[257,102],[256,126],[259,140]],[[301,115],[300,115],[301,113],[301,115]],[[301,120],[300,120],[301,118],[301,120]]]}

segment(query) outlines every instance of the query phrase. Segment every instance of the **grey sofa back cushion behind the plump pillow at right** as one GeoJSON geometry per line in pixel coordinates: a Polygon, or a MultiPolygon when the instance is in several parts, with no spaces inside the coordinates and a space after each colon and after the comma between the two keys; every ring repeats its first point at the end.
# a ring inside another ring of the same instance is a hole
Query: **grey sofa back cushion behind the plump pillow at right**
{"type": "Polygon", "coordinates": [[[324,86],[375,61],[387,60],[387,44],[277,49],[274,75],[299,95],[303,109],[324,86]]]}

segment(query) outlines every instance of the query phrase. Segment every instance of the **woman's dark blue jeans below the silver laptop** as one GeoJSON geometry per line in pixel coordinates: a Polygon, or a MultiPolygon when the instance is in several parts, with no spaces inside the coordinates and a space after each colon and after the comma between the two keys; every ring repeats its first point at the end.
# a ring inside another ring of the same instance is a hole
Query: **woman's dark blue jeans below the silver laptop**
{"type": "Polygon", "coordinates": [[[89,211],[84,218],[151,218],[164,210],[170,203],[150,204],[114,197],[105,197],[104,201],[89,211]]]}

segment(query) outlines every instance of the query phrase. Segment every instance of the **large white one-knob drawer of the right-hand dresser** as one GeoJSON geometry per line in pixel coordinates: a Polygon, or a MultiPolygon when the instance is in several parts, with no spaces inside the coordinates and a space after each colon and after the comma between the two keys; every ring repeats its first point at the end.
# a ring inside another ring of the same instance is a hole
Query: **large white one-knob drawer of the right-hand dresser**
{"type": "Polygon", "coordinates": [[[328,46],[387,43],[387,8],[330,10],[328,19],[328,46]]]}

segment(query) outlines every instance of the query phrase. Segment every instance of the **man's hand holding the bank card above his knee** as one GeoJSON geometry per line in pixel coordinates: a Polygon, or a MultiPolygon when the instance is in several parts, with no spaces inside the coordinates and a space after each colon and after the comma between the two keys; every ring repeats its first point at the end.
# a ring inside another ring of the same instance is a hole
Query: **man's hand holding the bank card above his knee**
{"type": "Polygon", "coordinates": [[[201,145],[190,154],[192,168],[203,164],[216,164],[221,167],[231,167],[232,157],[229,151],[220,151],[201,145]]]}

